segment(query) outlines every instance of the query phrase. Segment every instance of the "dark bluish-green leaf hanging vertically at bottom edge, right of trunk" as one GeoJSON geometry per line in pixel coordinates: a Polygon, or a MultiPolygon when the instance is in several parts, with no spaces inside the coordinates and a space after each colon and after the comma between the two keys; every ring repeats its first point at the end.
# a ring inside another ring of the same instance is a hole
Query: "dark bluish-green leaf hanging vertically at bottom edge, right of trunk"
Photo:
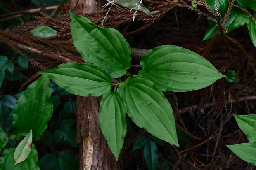
{"type": "Polygon", "coordinates": [[[147,163],[147,168],[149,170],[156,170],[158,153],[156,144],[154,144],[152,140],[146,142],[143,154],[147,163]]]}

